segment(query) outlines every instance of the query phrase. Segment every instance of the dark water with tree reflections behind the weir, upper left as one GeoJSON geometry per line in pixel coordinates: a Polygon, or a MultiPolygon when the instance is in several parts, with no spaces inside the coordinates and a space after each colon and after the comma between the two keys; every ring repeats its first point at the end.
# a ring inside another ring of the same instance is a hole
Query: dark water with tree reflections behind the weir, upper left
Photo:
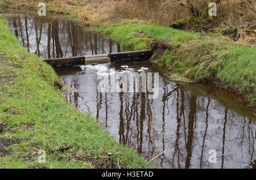
{"type": "Polygon", "coordinates": [[[44,19],[36,15],[2,15],[28,52],[35,53],[42,59],[122,51],[121,45],[104,34],[85,30],[76,23],[59,17],[44,19]]]}

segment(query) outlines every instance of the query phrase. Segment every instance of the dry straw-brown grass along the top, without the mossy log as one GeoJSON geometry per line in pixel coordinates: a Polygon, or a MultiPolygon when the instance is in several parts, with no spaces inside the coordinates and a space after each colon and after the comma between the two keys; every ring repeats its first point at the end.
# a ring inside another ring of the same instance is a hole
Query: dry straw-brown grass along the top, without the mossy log
{"type": "MultiPolygon", "coordinates": [[[[187,0],[184,0],[187,1],[187,0]]],[[[216,2],[218,0],[212,0],[216,2]]],[[[251,7],[256,8],[255,0],[246,0],[251,7]]],[[[13,6],[31,4],[36,6],[40,0],[14,0],[13,6]]],[[[47,0],[48,10],[79,17],[88,25],[109,25],[123,19],[137,18],[148,22],[169,26],[177,19],[192,15],[192,12],[180,5],[179,0],[47,0]]],[[[190,0],[200,10],[208,11],[208,0],[190,0]]],[[[246,33],[246,26],[256,28],[255,12],[240,0],[221,0],[217,6],[217,16],[209,21],[199,17],[184,25],[188,31],[209,31],[235,25],[239,29],[240,37],[245,42],[251,42],[255,36],[246,33]],[[250,36],[250,38],[248,37],[250,36]],[[250,39],[250,40],[249,40],[250,39]]]]}

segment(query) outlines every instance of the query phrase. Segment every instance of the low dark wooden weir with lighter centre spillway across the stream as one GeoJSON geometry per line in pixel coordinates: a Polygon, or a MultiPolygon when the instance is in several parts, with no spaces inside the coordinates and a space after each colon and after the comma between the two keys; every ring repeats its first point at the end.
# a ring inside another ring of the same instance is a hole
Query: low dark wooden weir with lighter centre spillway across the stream
{"type": "Polygon", "coordinates": [[[53,67],[75,66],[75,65],[95,65],[99,63],[121,63],[134,62],[149,59],[151,57],[150,50],[139,50],[134,52],[109,53],[84,55],[67,58],[54,58],[44,60],[53,67]]]}

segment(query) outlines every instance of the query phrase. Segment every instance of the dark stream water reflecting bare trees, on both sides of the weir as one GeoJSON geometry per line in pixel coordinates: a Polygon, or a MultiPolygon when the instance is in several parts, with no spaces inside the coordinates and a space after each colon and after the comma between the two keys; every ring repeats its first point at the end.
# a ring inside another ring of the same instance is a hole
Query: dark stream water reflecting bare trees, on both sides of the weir
{"type": "MultiPolygon", "coordinates": [[[[28,49],[42,58],[122,50],[105,35],[84,31],[72,22],[55,19],[51,24],[36,24],[33,18],[25,19],[24,15],[4,16],[26,48],[27,19],[28,49]],[[57,39],[62,53],[56,50],[57,39]]],[[[65,93],[67,101],[93,115],[120,143],[134,147],[148,160],[155,151],[154,156],[170,147],[154,161],[158,168],[251,167],[256,160],[255,108],[211,85],[172,82],[164,74],[167,71],[148,62],[56,69],[69,89],[69,93],[65,93]],[[159,97],[150,99],[148,93],[99,92],[97,75],[109,74],[110,67],[124,73],[160,72],[159,97]],[[208,161],[211,149],[217,152],[216,164],[208,161]]]]}

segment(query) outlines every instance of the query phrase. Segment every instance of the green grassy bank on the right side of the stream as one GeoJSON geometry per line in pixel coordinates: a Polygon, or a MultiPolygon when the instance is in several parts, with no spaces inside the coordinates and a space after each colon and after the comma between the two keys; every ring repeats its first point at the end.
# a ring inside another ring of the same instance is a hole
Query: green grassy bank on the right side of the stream
{"type": "Polygon", "coordinates": [[[214,82],[252,104],[256,102],[256,49],[249,45],[136,19],[96,29],[134,50],[150,49],[156,43],[166,42],[165,53],[153,55],[156,63],[197,82],[214,82]]]}

